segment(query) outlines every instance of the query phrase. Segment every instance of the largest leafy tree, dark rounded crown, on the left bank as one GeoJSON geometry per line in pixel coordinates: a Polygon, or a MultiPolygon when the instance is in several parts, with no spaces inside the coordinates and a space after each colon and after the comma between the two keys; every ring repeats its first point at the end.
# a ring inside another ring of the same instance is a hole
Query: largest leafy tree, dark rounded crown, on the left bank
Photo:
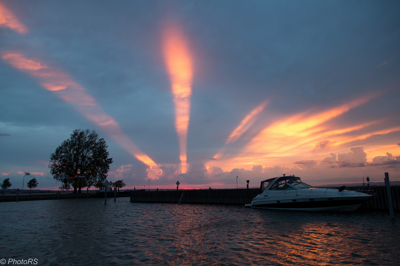
{"type": "MultiPolygon", "coordinates": [[[[94,185],[98,180],[104,181],[112,164],[112,158],[108,158],[107,148],[104,138],[99,138],[96,131],[74,130],[70,138],[64,140],[50,156],[50,173],[60,182],[64,181],[64,174],[85,174],[86,186],[94,185]]],[[[76,193],[78,179],[68,179],[65,183],[73,185],[76,193]]]]}

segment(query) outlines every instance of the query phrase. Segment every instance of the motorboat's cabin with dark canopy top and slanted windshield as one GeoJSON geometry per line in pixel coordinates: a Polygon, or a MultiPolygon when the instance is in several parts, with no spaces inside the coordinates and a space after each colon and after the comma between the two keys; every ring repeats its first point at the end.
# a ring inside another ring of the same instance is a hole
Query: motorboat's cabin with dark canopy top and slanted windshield
{"type": "Polygon", "coordinates": [[[270,178],[261,181],[260,194],[265,190],[290,190],[301,188],[314,188],[313,186],[303,183],[300,177],[294,175],[270,178]],[[277,179],[278,178],[278,179],[277,179]]]}

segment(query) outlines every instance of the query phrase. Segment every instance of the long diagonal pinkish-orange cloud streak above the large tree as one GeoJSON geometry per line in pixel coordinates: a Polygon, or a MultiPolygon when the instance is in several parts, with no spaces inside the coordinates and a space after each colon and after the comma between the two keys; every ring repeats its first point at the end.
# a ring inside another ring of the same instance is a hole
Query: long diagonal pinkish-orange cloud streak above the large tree
{"type": "Polygon", "coordinates": [[[114,118],[104,112],[96,100],[82,86],[73,81],[70,75],[46,65],[42,61],[28,59],[24,54],[14,51],[2,53],[1,58],[16,69],[36,77],[42,87],[54,91],[61,99],[74,105],[78,111],[102,128],[108,136],[132,156],[144,162],[150,168],[156,166],[156,163],[122,132],[114,118]]]}

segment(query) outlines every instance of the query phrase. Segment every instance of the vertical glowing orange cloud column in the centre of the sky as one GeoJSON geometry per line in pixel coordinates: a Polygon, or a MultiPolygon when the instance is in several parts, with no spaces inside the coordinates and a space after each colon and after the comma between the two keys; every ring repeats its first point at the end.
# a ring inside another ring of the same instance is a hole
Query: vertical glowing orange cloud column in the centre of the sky
{"type": "Polygon", "coordinates": [[[168,27],[163,35],[163,51],[170,75],[175,105],[175,128],[179,139],[182,173],[186,172],[186,151],[190,120],[190,95],[192,94],[192,60],[182,32],[168,27]]]}

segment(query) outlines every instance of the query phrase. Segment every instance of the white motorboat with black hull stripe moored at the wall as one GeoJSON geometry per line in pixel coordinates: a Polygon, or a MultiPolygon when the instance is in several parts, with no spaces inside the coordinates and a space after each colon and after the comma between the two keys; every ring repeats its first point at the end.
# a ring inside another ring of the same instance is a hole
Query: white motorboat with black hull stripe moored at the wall
{"type": "Polygon", "coordinates": [[[283,175],[261,181],[260,194],[246,207],[306,211],[354,211],[372,195],[352,190],[318,188],[300,177],[283,175]]]}

